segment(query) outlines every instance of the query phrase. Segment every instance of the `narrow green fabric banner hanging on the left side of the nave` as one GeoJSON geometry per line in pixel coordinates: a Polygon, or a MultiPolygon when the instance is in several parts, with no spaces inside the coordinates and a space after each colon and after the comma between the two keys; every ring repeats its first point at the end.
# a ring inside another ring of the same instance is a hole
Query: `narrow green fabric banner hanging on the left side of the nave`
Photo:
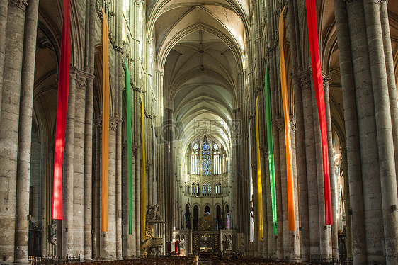
{"type": "Polygon", "coordinates": [[[132,145],[131,145],[131,85],[130,71],[126,65],[126,112],[127,112],[127,171],[128,171],[128,233],[132,235],[132,145]]]}

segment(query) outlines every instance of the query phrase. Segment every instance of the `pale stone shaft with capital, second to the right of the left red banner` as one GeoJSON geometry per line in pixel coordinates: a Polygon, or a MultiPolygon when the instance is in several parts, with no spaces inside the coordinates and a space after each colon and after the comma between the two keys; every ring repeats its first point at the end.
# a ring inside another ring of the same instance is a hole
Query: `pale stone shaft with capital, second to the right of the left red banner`
{"type": "MultiPolygon", "coordinates": [[[[73,244],[74,256],[84,256],[84,140],[85,106],[88,74],[76,70],[74,104],[74,157],[73,157],[73,244]]],[[[68,110],[70,111],[70,109],[68,110]]]]}

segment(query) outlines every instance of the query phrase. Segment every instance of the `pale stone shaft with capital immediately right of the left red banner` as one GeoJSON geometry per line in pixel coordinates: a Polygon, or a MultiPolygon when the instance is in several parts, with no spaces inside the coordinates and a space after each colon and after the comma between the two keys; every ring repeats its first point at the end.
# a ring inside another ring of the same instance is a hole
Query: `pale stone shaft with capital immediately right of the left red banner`
{"type": "Polygon", "coordinates": [[[67,126],[65,131],[64,169],[63,169],[63,205],[62,220],[62,256],[74,256],[74,118],[76,97],[76,69],[72,68],[69,80],[69,99],[67,126]]]}

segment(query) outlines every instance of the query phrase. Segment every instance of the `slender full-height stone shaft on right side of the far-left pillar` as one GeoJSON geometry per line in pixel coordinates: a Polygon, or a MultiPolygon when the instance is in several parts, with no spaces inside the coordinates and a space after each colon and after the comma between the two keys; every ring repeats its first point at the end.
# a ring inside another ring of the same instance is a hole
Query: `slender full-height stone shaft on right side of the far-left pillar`
{"type": "Polygon", "coordinates": [[[26,216],[29,214],[30,145],[32,137],[33,88],[35,86],[38,9],[38,0],[32,0],[29,2],[25,18],[24,56],[21,77],[21,105],[19,116],[18,167],[16,183],[16,249],[14,262],[24,264],[28,263],[29,223],[26,216]]]}

